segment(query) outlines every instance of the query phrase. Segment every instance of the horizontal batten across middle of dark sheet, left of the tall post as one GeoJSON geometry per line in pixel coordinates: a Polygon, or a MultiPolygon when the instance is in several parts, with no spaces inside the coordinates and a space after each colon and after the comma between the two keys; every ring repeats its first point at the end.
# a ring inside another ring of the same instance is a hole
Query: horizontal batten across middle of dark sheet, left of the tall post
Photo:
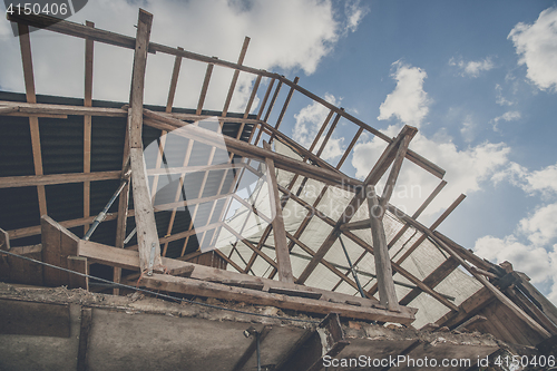
{"type": "MultiPolygon", "coordinates": [[[[25,175],[0,177],[0,188],[45,186],[50,184],[68,184],[119,179],[121,172],[69,173],[49,175],[25,175]]],[[[87,216],[86,216],[87,217],[87,216]]]]}

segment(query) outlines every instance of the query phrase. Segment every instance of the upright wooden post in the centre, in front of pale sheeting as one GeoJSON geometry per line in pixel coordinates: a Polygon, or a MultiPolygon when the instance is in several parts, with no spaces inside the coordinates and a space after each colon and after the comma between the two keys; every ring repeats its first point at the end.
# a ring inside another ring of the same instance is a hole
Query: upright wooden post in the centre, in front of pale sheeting
{"type": "MultiPolygon", "coordinates": [[[[271,145],[263,141],[263,148],[271,150],[271,145]]],[[[276,262],[278,263],[278,280],[283,282],[294,282],[292,276],[292,265],[290,252],[286,244],[286,231],[282,216],[281,197],[278,196],[278,185],[276,183],[275,166],[273,159],[265,158],[267,167],[266,177],[268,185],[268,198],[271,202],[271,218],[273,219],[273,235],[275,241],[276,262]]]]}

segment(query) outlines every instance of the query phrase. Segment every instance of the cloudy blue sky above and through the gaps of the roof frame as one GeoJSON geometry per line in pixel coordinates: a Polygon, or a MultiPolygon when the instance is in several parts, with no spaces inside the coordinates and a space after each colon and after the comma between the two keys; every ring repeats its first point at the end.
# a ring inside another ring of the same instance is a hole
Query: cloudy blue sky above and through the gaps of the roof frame
{"type": "MultiPolygon", "coordinates": [[[[555,1],[98,0],[70,20],[134,36],[138,7],[155,16],[153,41],[234,61],[250,36],[245,65],[300,76],[304,88],[390,136],[417,126],[411,148],[449,182],[420,221],[430,224],[465,193],[440,231],[492,262],[510,261],[557,302],[555,1]]],[[[82,40],[38,31],[31,42],[37,91],[82,96],[82,40]]],[[[0,47],[0,88],[23,91],[6,20],[0,47]]],[[[95,53],[94,98],[126,101],[133,51],[98,45],[95,53]]],[[[149,56],[147,102],[166,102],[172,66],[170,57],[149,56]]],[[[204,68],[183,64],[177,106],[194,107],[204,68]]],[[[221,109],[231,76],[215,68],[207,108],[221,109]]],[[[241,75],[233,108],[242,109],[252,84],[241,75]]],[[[282,130],[304,144],[323,115],[294,99],[282,130]]],[[[354,131],[341,121],[325,152],[331,163],[354,131]]],[[[382,146],[362,137],[343,170],[363,177],[382,146]]],[[[400,182],[423,187],[421,197],[394,197],[409,212],[438,183],[412,165],[400,182]]]]}

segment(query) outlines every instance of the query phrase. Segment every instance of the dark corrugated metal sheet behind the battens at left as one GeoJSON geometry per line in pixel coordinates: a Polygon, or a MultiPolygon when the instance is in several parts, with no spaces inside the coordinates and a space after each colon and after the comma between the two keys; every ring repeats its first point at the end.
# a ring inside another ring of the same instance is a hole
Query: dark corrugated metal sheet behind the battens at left
{"type": "MultiPolygon", "coordinates": [[[[0,91],[0,100],[26,101],[23,94],[0,91]]],[[[63,98],[52,96],[37,96],[38,102],[82,106],[82,99],[63,98]]],[[[97,101],[96,107],[121,107],[123,102],[97,101]]],[[[146,106],[152,110],[164,111],[164,107],[146,106]]],[[[177,113],[194,114],[192,109],[174,109],[177,113]]],[[[204,115],[219,116],[219,113],[203,111],[204,115]]],[[[242,117],[237,114],[228,114],[228,117],[242,117]]],[[[216,130],[216,126],[202,123],[201,126],[208,126],[216,130]]],[[[223,126],[223,134],[237,137],[241,124],[226,123],[223,126]]],[[[91,172],[120,170],[124,154],[124,139],[126,130],[126,118],[123,117],[94,117],[91,121],[91,172]]],[[[253,125],[245,125],[241,134],[242,140],[247,140],[253,130],[253,125]]],[[[39,118],[40,144],[42,154],[43,174],[67,174],[84,172],[84,117],[68,116],[60,118],[39,118]]],[[[144,147],[156,141],[162,131],[144,126],[144,147]]],[[[169,141],[177,140],[176,136],[168,136],[169,141]]],[[[182,138],[182,145],[187,146],[187,139],[182,138]]],[[[157,143],[155,145],[158,146],[157,143]]],[[[207,165],[211,148],[195,144],[189,166],[207,165]]],[[[227,158],[226,153],[217,152],[214,164],[222,163],[227,158]]],[[[165,153],[167,166],[183,166],[184,156],[165,153]]],[[[155,167],[156,157],[147,157],[147,167],[155,167]]],[[[163,164],[164,166],[164,164],[163,164]]],[[[31,138],[29,131],[29,120],[27,117],[0,116],[0,177],[35,175],[35,166],[31,149],[31,138]]],[[[199,189],[203,176],[193,174],[186,176],[185,186],[192,189],[199,189]]],[[[204,175],[204,173],[203,173],[204,175]]],[[[209,172],[202,196],[214,196],[218,192],[224,170],[209,172]]],[[[178,175],[179,177],[179,175],[178,175]]],[[[163,176],[160,177],[163,178],[163,176]]],[[[222,187],[222,194],[228,192],[233,179],[233,172],[226,173],[226,179],[222,187]]],[[[153,182],[153,177],[150,177],[153,182]]],[[[163,182],[164,183],[164,182],[163,182]]],[[[152,183],[153,184],[153,183],[152,183]]],[[[176,194],[176,182],[167,185],[169,192],[157,193],[156,203],[173,203],[176,194]],[[172,196],[172,197],[170,197],[172,196]]],[[[90,215],[98,214],[117,189],[119,180],[100,180],[90,184],[90,215]]],[[[62,222],[84,217],[84,185],[82,183],[60,184],[46,186],[48,214],[55,221],[62,222]]],[[[131,194],[131,193],[130,193],[131,194]]],[[[221,201],[216,204],[213,213],[213,221],[218,217],[224,206],[221,201]]],[[[110,211],[116,213],[118,201],[114,203],[110,211]]],[[[130,208],[133,208],[133,197],[130,197],[130,208]]],[[[196,214],[196,225],[201,226],[209,222],[213,203],[199,205],[196,214]]],[[[190,226],[190,215],[193,211],[178,211],[172,228],[172,234],[187,231],[190,226]]],[[[167,234],[172,211],[156,213],[157,231],[160,237],[167,234]]],[[[17,187],[0,189],[0,227],[12,231],[40,224],[38,207],[38,196],[36,187],[17,187]]],[[[127,233],[135,227],[133,217],[128,218],[127,233]]],[[[85,234],[84,227],[74,227],[71,232],[78,236],[85,234]]],[[[100,224],[95,231],[91,241],[114,245],[116,240],[116,221],[107,221],[100,224]]],[[[205,240],[211,240],[211,236],[205,240]]],[[[170,242],[167,247],[167,256],[177,257],[182,254],[185,238],[170,242]]],[[[40,243],[40,236],[31,236],[12,241],[13,246],[40,243]]],[[[137,244],[136,237],[131,238],[128,245],[137,244]]],[[[198,247],[195,236],[187,243],[185,253],[194,252],[198,247]]]]}

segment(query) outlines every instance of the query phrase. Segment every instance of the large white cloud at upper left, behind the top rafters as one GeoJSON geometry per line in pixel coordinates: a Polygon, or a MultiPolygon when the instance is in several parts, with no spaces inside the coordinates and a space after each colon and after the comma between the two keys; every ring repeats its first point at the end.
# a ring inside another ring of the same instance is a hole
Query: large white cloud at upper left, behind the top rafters
{"type": "MultiPolygon", "coordinates": [[[[314,72],[348,28],[354,30],[363,17],[358,2],[351,3],[349,12],[343,7],[333,7],[331,0],[146,0],[139,4],[125,0],[98,0],[89,1],[70,20],[92,20],[97,28],[135,37],[139,6],[154,14],[154,42],[236,61],[244,36],[250,36],[252,40],[244,65],[267,70],[300,69],[305,74],[314,72]]],[[[4,35],[9,22],[1,25],[4,35]]],[[[17,38],[1,37],[0,47],[0,86],[23,91],[17,38]]],[[[82,96],[84,40],[41,30],[31,33],[31,47],[38,94],[82,96]]],[[[94,99],[128,100],[133,55],[133,50],[95,43],[94,99]]],[[[147,104],[166,104],[173,62],[172,56],[148,56],[147,104]]],[[[205,64],[184,59],[176,106],[196,106],[205,68],[205,64]]],[[[232,74],[229,69],[215,67],[205,108],[223,108],[232,74]]],[[[243,109],[253,81],[253,76],[240,75],[232,111],[243,109]]]]}

